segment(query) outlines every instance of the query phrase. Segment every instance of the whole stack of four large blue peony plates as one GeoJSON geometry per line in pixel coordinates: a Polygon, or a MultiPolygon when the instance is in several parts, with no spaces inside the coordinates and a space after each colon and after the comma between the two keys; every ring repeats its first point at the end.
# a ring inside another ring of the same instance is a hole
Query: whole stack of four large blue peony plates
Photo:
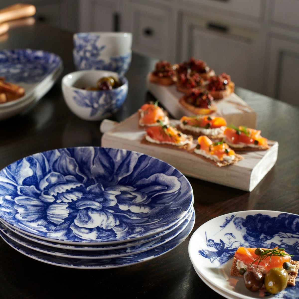
{"type": "Polygon", "coordinates": [[[138,152],[74,147],[0,171],[0,235],[33,259],[101,269],[158,257],[190,234],[193,191],[169,164],[138,152]]]}

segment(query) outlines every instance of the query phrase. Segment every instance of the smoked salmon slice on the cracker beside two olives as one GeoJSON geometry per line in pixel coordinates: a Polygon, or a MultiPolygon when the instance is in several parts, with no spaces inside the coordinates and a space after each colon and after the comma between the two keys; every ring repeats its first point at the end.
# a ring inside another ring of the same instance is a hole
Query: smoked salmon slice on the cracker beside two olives
{"type": "MultiPolygon", "coordinates": [[[[245,247],[239,247],[235,253],[235,257],[238,260],[241,260],[245,264],[251,264],[254,260],[256,260],[259,256],[254,253],[254,251],[257,248],[245,248],[245,247]]],[[[267,248],[262,248],[263,250],[269,250],[267,248]]],[[[283,251],[286,253],[285,251],[283,251]]],[[[280,267],[282,268],[282,265],[284,262],[289,262],[291,260],[290,256],[272,256],[271,257],[271,262],[270,262],[270,257],[266,257],[263,259],[260,263],[259,266],[264,267],[266,270],[270,270],[271,268],[274,267],[280,267]]],[[[254,262],[254,265],[257,265],[259,260],[254,262]]]]}

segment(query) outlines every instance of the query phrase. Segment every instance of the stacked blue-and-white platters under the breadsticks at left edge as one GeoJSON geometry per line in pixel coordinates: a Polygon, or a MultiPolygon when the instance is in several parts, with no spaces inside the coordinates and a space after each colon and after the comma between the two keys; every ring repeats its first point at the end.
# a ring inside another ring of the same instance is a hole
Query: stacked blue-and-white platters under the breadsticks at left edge
{"type": "Polygon", "coordinates": [[[63,70],[56,54],[32,49],[0,51],[0,76],[25,89],[17,100],[0,104],[0,120],[22,113],[37,103],[54,85],[63,70]]]}

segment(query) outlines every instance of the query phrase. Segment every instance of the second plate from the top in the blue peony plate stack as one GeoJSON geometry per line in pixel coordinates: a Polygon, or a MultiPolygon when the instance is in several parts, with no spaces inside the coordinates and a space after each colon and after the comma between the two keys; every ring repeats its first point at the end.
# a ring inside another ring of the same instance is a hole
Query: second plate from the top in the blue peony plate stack
{"type": "MultiPolygon", "coordinates": [[[[167,228],[164,231],[161,231],[157,234],[151,235],[147,238],[141,238],[141,239],[137,239],[135,241],[132,242],[124,242],[124,243],[118,243],[118,244],[112,244],[112,245],[91,245],[91,246],[77,246],[77,245],[66,245],[66,244],[60,244],[60,243],[56,243],[56,242],[49,242],[46,240],[42,240],[42,239],[37,239],[35,237],[23,234],[21,231],[17,231],[16,229],[14,229],[12,226],[8,225],[7,223],[3,223],[0,220],[0,225],[3,224],[4,227],[7,227],[10,231],[12,231],[13,233],[17,234],[18,236],[20,236],[20,238],[26,239],[26,242],[33,242],[35,243],[36,246],[39,246],[40,244],[45,245],[47,247],[52,247],[52,250],[54,248],[59,248],[59,249],[64,249],[64,250],[72,250],[72,251],[103,251],[103,250],[118,250],[118,249],[122,249],[122,248],[129,248],[132,246],[137,246],[140,244],[143,244],[145,242],[150,242],[150,241],[154,241],[157,238],[162,238],[165,237],[165,234],[170,233],[171,231],[173,231],[174,229],[176,229],[179,225],[181,225],[186,218],[188,218],[191,214],[193,210],[193,206],[190,207],[190,209],[188,210],[188,212],[186,213],[186,215],[179,220],[178,222],[176,222],[173,226],[167,228]]],[[[2,227],[2,226],[1,226],[2,227]]]]}

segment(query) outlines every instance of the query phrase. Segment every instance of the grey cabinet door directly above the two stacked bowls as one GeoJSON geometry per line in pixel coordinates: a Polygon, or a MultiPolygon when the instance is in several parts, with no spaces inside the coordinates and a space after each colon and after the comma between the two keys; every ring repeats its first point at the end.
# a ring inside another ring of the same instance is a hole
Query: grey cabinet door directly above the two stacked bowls
{"type": "Polygon", "coordinates": [[[80,31],[120,30],[119,3],[110,0],[80,0],[80,31]]]}

